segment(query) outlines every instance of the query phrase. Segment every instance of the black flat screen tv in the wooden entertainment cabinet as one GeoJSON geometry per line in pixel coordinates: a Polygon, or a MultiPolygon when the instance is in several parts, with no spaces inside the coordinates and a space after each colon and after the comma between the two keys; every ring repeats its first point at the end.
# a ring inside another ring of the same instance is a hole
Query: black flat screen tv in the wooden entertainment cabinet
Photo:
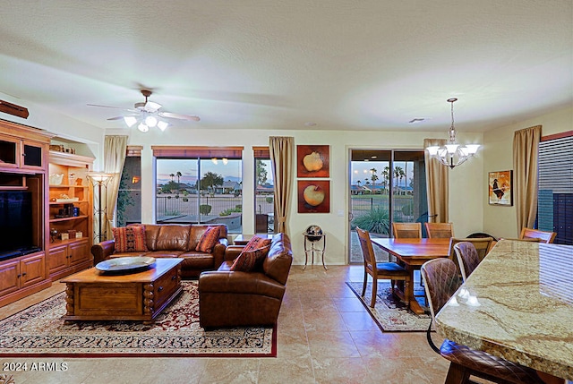
{"type": "Polygon", "coordinates": [[[0,260],[39,251],[33,231],[31,192],[0,191],[0,260]]]}

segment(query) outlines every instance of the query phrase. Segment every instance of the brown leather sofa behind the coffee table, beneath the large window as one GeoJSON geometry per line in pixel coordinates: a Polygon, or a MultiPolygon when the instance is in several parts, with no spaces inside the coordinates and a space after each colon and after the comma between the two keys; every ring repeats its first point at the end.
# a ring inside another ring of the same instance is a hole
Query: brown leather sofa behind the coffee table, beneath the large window
{"type": "Polygon", "coordinates": [[[198,252],[195,247],[208,225],[145,224],[148,252],[115,252],[115,241],[107,240],[91,247],[94,262],[114,257],[150,256],[155,258],[181,258],[181,277],[198,277],[204,270],[214,270],[223,262],[227,249],[227,226],[220,226],[218,243],[212,252],[198,252]]]}

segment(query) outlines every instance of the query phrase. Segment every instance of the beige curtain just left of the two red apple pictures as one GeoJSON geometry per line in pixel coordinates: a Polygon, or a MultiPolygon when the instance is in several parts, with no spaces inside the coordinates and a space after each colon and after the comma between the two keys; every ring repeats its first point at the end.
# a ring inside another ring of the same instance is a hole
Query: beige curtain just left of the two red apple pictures
{"type": "Polygon", "coordinates": [[[293,191],[294,137],[269,137],[269,154],[275,184],[275,233],[285,233],[293,191]]]}

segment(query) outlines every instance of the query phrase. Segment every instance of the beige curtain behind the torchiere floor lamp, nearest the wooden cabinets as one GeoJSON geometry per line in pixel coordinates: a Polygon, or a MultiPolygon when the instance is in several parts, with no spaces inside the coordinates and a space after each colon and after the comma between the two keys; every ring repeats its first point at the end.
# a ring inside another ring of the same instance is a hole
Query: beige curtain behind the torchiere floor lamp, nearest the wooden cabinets
{"type": "Polygon", "coordinates": [[[112,239],[113,220],[115,217],[115,203],[119,182],[124,170],[125,154],[127,153],[127,136],[106,136],[104,141],[104,172],[114,174],[114,177],[107,183],[106,191],[106,221],[104,223],[106,240],[112,239]]]}

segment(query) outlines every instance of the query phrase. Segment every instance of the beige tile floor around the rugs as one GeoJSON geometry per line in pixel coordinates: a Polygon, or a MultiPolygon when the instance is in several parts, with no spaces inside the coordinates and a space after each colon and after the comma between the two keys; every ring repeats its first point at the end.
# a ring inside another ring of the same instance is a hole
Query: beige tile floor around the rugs
{"type": "MultiPolygon", "coordinates": [[[[76,383],[443,383],[448,362],[425,334],[382,333],[346,281],[362,266],[293,266],[278,318],[276,358],[2,358],[4,363],[67,363],[67,371],[0,371],[13,384],[76,383]]],[[[0,318],[62,290],[0,309],[0,318]]],[[[2,380],[0,380],[2,382],[2,380]]]]}

